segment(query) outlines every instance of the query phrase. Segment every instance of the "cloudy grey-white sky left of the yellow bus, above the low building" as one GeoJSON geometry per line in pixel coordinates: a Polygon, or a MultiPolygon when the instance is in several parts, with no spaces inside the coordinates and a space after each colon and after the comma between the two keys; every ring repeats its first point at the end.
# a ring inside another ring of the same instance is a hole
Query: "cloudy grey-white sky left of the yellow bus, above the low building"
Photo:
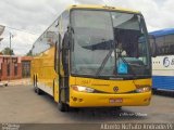
{"type": "Polygon", "coordinates": [[[40,34],[57,18],[57,16],[73,0],[1,0],[0,24],[30,31],[36,35],[5,28],[0,51],[9,47],[9,32],[15,35],[12,39],[12,49],[15,54],[26,54],[40,34]],[[39,34],[39,35],[38,35],[39,34]]]}

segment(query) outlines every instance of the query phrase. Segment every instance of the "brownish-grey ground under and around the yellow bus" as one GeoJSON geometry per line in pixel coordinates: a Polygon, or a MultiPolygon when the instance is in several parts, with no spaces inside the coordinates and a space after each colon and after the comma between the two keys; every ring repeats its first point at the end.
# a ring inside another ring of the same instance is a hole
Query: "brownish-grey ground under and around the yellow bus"
{"type": "Polygon", "coordinates": [[[153,95],[149,106],[83,108],[61,113],[53,99],[37,95],[29,81],[0,87],[0,122],[90,123],[90,122],[173,122],[174,98],[153,95]],[[28,84],[27,84],[28,83],[28,84]]]}

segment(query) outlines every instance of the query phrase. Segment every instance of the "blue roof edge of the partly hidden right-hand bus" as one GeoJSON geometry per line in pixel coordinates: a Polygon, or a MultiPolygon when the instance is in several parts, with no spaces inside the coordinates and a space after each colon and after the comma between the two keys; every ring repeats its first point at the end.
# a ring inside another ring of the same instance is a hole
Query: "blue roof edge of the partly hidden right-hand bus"
{"type": "Polygon", "coordinates": [[[149,32],[150,35],[153,35],[156,37],[166,36],[166,35],[174,35],[174,28],[166,28],[161,30],[156,30],[149,32]]]}

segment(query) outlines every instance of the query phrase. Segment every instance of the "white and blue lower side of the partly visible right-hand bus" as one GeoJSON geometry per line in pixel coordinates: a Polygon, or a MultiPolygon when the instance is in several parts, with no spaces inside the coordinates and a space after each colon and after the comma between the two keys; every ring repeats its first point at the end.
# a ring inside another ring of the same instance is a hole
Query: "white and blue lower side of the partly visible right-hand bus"
{"type": "Polygon", "coordinates": [[[152,88],[174,90],[174,58],[172,55],[152,58],[152,88]]]}

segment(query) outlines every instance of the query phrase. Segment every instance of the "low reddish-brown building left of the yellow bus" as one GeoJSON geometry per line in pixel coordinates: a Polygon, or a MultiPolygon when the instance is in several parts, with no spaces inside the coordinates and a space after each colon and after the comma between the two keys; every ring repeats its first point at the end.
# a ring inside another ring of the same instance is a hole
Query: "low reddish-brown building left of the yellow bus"
{"type": "Polygon", "coordinates": [[[30,75],[29,56],[0,55],[0,80],[12,80],[30,75]]]}

